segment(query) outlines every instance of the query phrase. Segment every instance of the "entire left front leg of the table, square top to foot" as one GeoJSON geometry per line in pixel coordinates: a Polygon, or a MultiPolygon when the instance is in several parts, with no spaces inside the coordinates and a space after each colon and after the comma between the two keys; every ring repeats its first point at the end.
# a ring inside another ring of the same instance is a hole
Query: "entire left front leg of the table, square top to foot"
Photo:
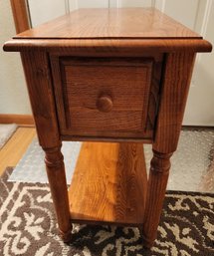
{"type": "Polygon", "coordinates": [[[55,100],[48,55],[44,52],[21,53],[38,139],[46,156],[46,169],[54,201],[59,230],[70,240],[71,222],[65,166],[56,117],[55,100]],[[61,200],[59,198],[64,198],[61,200]]]}

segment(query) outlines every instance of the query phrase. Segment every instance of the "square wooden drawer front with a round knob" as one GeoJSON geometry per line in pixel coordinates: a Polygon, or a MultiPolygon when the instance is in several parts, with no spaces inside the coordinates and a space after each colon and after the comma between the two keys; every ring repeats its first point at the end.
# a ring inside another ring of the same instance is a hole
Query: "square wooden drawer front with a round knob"
{"type": "Polygon", "coordinates": [[[61,57],[53,67],[63,135],[151,136],[152,58],[61,57]]]}

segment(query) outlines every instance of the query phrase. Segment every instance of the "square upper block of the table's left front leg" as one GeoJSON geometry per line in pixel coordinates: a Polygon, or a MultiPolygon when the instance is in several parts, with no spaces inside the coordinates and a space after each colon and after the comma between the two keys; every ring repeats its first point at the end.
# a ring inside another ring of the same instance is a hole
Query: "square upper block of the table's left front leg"
{"type": "Polygon", "coordinates": [[[45,148],[60,145],[48,55],[43,52],[21,53],[21,58],[39,142],[45,148]]]}

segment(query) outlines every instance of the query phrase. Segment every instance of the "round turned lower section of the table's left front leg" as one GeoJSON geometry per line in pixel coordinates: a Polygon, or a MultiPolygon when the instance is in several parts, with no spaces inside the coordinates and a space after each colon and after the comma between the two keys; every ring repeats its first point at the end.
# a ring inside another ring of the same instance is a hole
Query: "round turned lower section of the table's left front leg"
{"type": "Polygon", "coordinates": [[[71,240],[72,224],[70,220],[69,196],[61,145],[52,148],[44,148],[44,150],[46,153],[46,170],[57,214],[59,231],[62,239],[65,242],[69,242],[71,240]]]}

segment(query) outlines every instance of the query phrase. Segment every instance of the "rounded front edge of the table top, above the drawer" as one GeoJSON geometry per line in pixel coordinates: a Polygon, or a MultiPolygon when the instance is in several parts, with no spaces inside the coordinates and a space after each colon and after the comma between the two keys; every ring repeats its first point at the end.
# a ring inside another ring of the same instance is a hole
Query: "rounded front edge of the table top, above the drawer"
{"type": "Polygon", "coordinates": [[[211,52],[212,45],[202,39],[12,39],[4,51],[43,50],[70,56],[140,57],[146,53],[211,52]]]}

